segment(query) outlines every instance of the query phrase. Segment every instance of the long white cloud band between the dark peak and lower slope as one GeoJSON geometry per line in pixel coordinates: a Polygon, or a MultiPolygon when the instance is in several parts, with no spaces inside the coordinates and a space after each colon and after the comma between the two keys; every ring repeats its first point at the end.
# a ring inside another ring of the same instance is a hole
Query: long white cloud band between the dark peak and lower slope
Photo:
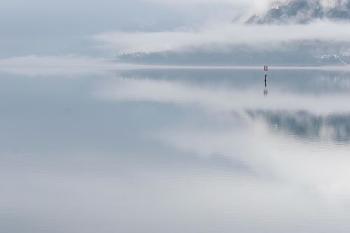
{"type": "Polygon", "coordinates": [[[159,52],[203,46],[228,46],[237,43],[273,47],[295,40],[350,40],[350,24],[314,22],[293,25],[243,25],[230,22],[205,24],[199,29],[176,31],[109,31],[92,36],[99,48],[113,52],[159,52]]]}

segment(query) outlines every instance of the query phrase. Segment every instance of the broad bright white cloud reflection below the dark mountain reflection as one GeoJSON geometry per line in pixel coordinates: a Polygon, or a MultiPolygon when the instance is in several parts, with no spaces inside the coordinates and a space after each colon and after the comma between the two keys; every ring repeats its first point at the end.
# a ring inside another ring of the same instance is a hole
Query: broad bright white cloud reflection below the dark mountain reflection
{"type": "Polygon", "coordinates": [[[304,145],[302,142],[272,134],[263,122],[255,122],[244,131],[237,128],[215,131],[186,125],[147,134],[180,151],[211,157],[224,155],[241,161],[260,179],[269,176],[276,183],[290,183],[312,195],[350,201],[348,177],[349,146],[304,145]],[[346,196],[345,196],[346,195],[346,196]]]}

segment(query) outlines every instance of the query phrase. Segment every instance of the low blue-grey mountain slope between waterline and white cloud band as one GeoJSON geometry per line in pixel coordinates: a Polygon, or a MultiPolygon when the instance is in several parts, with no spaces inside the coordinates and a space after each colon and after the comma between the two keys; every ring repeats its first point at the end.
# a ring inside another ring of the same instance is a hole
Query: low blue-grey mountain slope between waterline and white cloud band
{"type": "Polygon", "coordinates": [[[119,55],[120,62],[179,65],[289,65],[322,66],[350,64],[348,43],[332,41],[290,41],[277,48],[254,49],[249,45],[231,45],[221,49],[201,48],[183,51],[139,52],[119,55]]]}

